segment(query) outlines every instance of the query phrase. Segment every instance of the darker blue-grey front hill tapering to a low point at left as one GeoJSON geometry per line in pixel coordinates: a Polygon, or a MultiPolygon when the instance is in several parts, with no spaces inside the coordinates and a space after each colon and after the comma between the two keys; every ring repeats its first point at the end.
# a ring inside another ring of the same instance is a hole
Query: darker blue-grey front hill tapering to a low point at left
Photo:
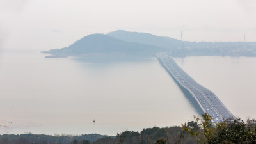
{"type": "Polygon", "coordinates": [[[156,52],[168,51],[164,47],[138,44],[113,38],[104,34],[92,34],[81,38],[69,47],[44,51],[53,55],[66,56],[77,54],[126,54],[152,56],[156,52]]]}

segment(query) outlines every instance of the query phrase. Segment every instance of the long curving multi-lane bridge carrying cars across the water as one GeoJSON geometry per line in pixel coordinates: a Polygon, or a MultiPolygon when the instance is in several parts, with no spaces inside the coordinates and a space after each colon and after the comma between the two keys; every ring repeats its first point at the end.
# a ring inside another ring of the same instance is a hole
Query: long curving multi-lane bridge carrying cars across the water
{"type": "Polygon", "coordinates": [[[227,118],[234,118],[234,115],[228,111],[221,100],[218,99],[211,90],[201,86],[192,77],[186,74],[168,54],[159,53],[156,54],[156,56],[160,63],[163,63],[164,67],[166,67],[166,70],[172,74],[175,81],[188,90],[195,98],[202,111],[211,115],[213,122],[218,123],[227,118]]]}

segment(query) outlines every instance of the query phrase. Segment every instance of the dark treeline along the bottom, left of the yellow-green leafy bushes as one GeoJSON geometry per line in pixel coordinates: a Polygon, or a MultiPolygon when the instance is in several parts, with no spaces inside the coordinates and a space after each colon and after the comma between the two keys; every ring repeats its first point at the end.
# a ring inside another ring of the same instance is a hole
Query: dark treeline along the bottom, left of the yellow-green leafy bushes
{"type": "MultiPolygon", "coordinates": [[[[99,134],[86,134],[81,136],[49,136],[44,134],[4,134],[0,135],[0,144],[115,144],[115,143],[155,143],[159,138],[175,143],[180,139],[181,127],[152,127],[138,131],[124,131],[116,136],[102,136],[99,134]]],[[[184,136],[182,141],[188,141],[184,136]]]]}

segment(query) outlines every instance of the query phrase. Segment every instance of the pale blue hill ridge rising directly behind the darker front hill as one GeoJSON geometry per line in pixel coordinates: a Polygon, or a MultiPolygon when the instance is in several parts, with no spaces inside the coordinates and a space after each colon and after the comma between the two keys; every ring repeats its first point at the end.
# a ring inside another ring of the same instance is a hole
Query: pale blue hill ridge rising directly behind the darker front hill
{"type": "MultiPolygon", "coordinates": [[[[107,33],[106,35],[112,36],[113,38],[118,38],[120,40],[125,40],[127,42],[136,42],[140,44],[155,45],[158,47],[166,47],[170,49],[177,48],[182,45],[182,42],[180,40],[176,40],[170,37],[156,36],[150,33],[138,33],[138,32],[118,30],[118,31],[107,33]]],[[[186,42],[186,43],[191,43],[191,42],[186,42]]]]}

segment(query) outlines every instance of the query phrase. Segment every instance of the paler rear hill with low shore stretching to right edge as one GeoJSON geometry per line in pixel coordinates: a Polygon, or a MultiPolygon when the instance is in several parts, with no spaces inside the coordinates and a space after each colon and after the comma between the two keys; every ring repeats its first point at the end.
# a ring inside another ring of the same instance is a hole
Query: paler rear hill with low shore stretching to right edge
{"type": "Polygon", "coordinates": [[[256,56],[256,42],[181,42],[169,37],[124,30],[107,35],[128,42],[166,47],[171,56],[256,56]]]}

